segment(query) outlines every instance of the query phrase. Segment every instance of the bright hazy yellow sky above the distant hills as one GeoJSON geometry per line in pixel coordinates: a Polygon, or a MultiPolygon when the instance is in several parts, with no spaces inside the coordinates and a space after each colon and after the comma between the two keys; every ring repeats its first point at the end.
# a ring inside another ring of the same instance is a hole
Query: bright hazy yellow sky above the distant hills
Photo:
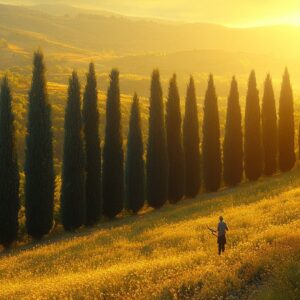
{"type": "MultiPolygon", "coordinates": [[[[62,3],[61,0],[0,0],[7,3],[62,3]]],[[[65,0],[133,16],[252,26],[300,25],[300,0],[65,0]]]]}

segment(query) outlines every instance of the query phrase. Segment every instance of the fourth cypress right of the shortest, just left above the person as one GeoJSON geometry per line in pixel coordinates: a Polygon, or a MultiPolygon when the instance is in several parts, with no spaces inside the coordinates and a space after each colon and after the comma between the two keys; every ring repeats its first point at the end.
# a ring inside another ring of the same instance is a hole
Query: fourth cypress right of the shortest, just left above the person
{"type": "Polygon", "coordinates": [[[221,185],[222,162],[218,100],[212,75],[204,100],[202,158],[205,189],[217,191],[221,185]]]}

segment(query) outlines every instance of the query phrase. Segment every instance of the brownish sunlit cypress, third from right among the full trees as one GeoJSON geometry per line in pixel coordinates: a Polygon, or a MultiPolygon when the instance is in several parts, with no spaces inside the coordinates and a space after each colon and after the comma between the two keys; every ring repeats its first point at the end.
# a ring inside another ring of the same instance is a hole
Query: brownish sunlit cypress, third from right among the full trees
{"type": "Polygon", "coordinates": [[[262,173],[262,145],[259,96],[255,72],[249,77],[245,112],[245,174],[247,179],[257,180],[262,173]]]}

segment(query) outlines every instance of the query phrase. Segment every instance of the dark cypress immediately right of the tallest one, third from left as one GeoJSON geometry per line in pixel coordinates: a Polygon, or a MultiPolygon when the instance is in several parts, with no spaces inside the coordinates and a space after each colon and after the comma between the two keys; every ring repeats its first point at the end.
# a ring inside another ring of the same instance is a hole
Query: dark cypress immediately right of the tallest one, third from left
{"type": "Polygon", "coordinates": [[[79,228],[85,221],[85,160],[80,84],[76,72],[69,80],[65,111],[61,219],[68,231],[79,228]]]}

